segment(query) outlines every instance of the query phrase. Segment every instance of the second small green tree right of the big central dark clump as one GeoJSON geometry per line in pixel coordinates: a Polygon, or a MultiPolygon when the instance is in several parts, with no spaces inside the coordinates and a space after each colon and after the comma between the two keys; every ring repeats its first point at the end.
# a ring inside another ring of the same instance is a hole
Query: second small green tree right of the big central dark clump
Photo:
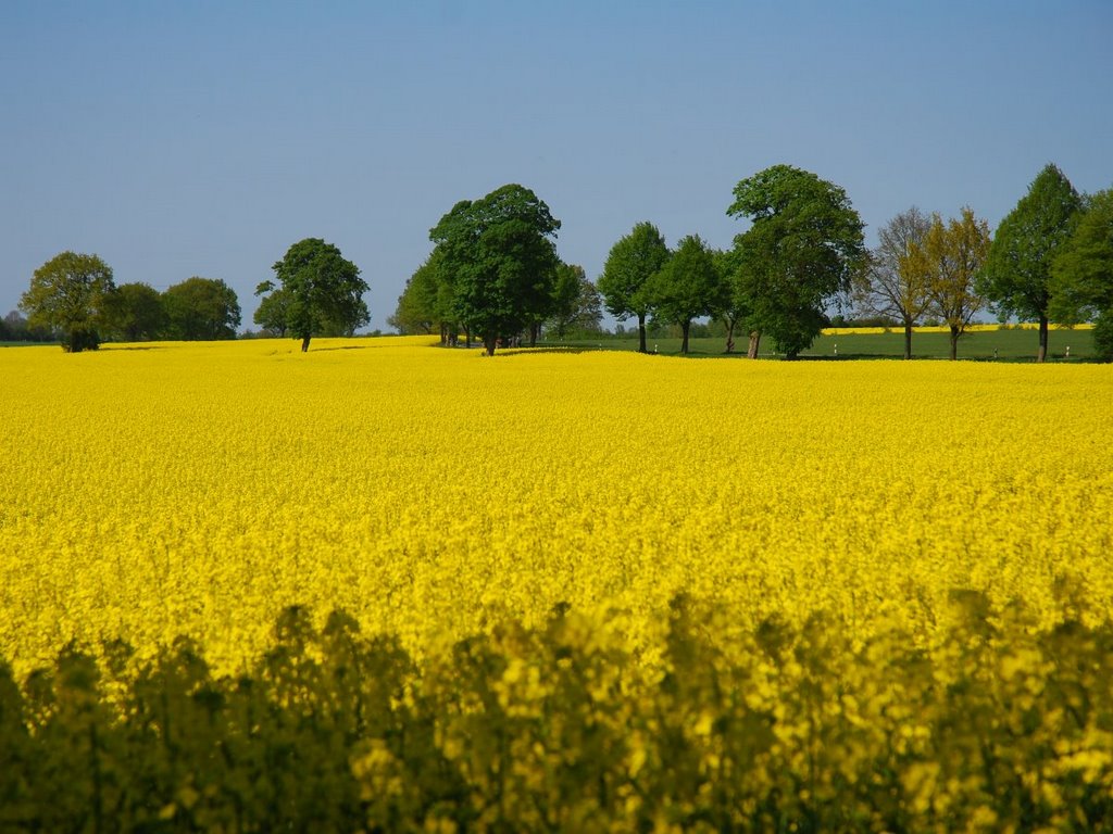
{"type": "Polygon", "coordinates": [[[680,326],[680,353],[684,355],[692,319],[715,315],[729,304],[729,287],[698,235],[681,239],[649,287],[657,315],[680,326]]]}

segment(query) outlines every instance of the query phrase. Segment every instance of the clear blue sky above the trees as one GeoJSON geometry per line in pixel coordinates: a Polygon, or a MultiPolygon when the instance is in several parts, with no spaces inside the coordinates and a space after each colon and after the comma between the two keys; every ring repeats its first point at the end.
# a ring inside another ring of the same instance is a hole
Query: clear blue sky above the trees
{"type": "Polygon", "coordinates": [[[598,277],[640,220],[728,247],[787,162],[877,227],[996,227],[1048,161],[1113,185],[1111,0],[0,3],[0,315],[60,251],[255,285],[306,237],[372,327],[457,200],[508,182],[598,277]]]}

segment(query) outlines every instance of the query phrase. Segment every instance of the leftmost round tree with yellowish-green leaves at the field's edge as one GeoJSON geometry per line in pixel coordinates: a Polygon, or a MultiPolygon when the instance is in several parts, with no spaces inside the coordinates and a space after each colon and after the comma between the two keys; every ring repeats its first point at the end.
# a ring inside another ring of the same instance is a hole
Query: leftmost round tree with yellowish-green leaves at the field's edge
{"type": "Polygon", "coordinates": [[[67,353],[96,350],[105,299],[115,287],[111,268],[99,257],[65,251],[35,270],[19,308],[29,328],[60,332],[67,353]]]}

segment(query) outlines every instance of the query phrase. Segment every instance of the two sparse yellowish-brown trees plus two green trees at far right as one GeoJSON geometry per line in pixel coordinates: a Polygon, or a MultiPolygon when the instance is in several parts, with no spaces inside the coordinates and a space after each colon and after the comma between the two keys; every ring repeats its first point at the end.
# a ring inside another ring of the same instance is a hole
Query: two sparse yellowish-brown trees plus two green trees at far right
{"type": "Polygon", "coordinates": [[[1038,361],[1052,320],[1096,321],[1096,349],[1113,356],[1113,191],[1080,195],[1048,165],[992,240],[969,209],[945,222],[915,207],[878,238],[853,299],[858,309],[904,325],[905,358],[912,328],[925,316],[939,315],[951,326],[954,358],[958,337],[986,309],[1002,320],[1038,322],[1038,361]]]}

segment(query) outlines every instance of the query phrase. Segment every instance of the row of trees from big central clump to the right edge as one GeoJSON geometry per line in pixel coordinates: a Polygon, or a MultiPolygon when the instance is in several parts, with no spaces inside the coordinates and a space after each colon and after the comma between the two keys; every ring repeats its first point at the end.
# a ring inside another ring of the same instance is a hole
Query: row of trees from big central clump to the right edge
{"type": "Polygon", "coordinates": [[[768,336],[795,358],[836,308],[900,322],[906,358],[913,328],[942,320],[955,358],[975,316],[993,311],[1040,322],[1041,361],[1052,318],[1096,319],[1099,350],[1113,354],[1113,198],[1078,195],[1053,165],[995,237],[968,207],[953,218],[913,207],[880,230],[874,250],[846,192],[809,171],[774,166],[733,193],[727,214],[750,227],[731,249],[697,235],[669,249],[656,226],[640,222],[611,248],[598,286],[560,261],[560,221],[529,189],[509,185],[462,201],[430,231],[433,251],[390,322],[400,332],[439,331],[445,342],[463,330],[493,354],[525,334],[532,344],[542,327],[598,328],[601,299],[619,320],[637,319],[642,351],[647,322],[677,325],[687,353],[692,321],[710,317],[723,322],[728,353],[742,331],[749,356],[768,336]]]}

